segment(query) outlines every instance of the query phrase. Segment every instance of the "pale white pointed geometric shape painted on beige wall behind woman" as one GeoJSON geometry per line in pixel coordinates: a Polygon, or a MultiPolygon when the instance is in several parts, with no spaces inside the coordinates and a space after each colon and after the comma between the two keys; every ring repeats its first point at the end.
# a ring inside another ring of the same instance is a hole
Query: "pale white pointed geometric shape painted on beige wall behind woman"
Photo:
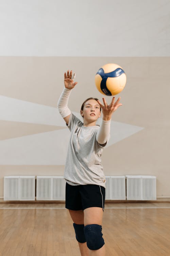
{"type": "MultiPolygon", "coordinates": [[[[55,131],[1,140],[1,165],[65,165],[70,131],[57,108],[0,96],[0,109],[0,120],[56,126],[55,131]]],[[[79,113],[73,113],[82,120],[79,113]]],[[[142,129],[111,121],[111,138],[106,147],[142,129]]]]}

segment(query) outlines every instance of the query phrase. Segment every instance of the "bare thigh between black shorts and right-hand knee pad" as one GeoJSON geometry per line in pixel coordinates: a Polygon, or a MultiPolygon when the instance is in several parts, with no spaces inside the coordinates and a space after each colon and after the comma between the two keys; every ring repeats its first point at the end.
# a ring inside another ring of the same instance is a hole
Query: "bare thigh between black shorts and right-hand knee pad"
{"type": "Polygon", "coordinates": [[[103,209],[101,207],[89,207],[84,210],[84,226],[91,224],[102,225],[103,209]]]}

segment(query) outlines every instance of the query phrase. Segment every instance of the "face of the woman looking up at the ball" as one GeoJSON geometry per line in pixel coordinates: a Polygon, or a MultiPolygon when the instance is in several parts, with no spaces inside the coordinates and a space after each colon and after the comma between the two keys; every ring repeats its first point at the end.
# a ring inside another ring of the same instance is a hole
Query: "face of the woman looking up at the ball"
{"type": "Polygon", "coordinates": [[[96,121],[101,115],[99,103],[95,99],[87,100],[80,113],[84,119],[96,121]]]}

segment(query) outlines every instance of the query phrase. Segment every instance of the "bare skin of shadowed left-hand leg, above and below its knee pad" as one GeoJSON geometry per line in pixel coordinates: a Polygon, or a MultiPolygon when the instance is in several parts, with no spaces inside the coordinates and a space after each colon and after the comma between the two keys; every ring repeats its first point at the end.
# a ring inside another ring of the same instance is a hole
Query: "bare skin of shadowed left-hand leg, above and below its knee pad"
{"type": "MultiPolygon", "coordinates": [[[[84,224],[84,212],[69,210],[70,216],[75,224],[84,224]]],[[[81,256],[89,256],[89,249],[87,243],[79,243],[81,256]]]]}

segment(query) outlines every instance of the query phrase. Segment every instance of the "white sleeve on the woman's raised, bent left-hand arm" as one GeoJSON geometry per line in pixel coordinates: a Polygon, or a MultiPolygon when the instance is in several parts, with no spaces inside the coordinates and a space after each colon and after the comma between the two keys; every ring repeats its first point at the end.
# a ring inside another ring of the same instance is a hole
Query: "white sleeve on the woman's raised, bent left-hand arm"
{"type": "Polygon", "coordinates": [[[58,99],[58,102],[57,102],[58,111],[60,112],[63,118],[71,114],[71,111],[67,106],[70,93],[71,93],[71,90],[64,87],[63,92],[60,95],[60,98],[58,99]]]}

